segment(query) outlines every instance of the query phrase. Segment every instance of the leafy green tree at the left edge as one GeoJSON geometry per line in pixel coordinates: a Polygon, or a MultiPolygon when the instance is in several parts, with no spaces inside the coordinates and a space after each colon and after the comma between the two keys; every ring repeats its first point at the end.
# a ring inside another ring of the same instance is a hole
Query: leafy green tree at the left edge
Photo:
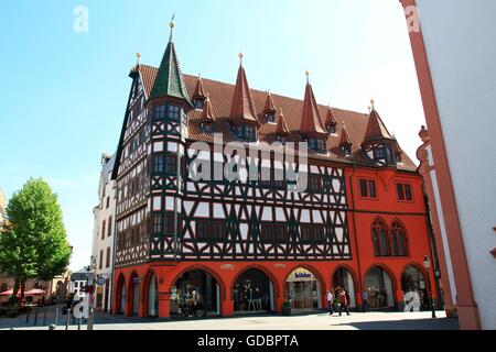
{"type": "Polygon", "coordinates": [[[30,178],[9,200],[8,226],[0,234],[0,270],[15,278],[24,296],[29,278],[50,279],[63,274],[72,249],[66,239],[57,196],[43,179],[30,178]]]}

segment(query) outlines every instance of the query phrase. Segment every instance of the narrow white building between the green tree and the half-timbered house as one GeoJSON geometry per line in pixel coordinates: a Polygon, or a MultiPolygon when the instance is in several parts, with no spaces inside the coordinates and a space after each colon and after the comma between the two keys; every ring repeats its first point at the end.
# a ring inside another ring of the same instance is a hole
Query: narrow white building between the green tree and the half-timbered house
{"type": "Polygon", "coordinates": [[[93,210],[93,258],[95,260],[97,283],[95,289],[96,309],[109,311],[111,307],[114,241],[116,213],[116,182],[111,179],[116,156],[101,155],[101,173],[98,186],[99,205],[93,210]],[[101,285],[103,284],[103,285],[101,285]]]}

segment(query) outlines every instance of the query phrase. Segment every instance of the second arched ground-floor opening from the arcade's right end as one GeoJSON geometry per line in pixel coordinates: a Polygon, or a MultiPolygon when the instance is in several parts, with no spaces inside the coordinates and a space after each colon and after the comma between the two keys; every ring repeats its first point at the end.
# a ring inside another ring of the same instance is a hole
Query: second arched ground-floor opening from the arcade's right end
{"type": "Polygon", "coordinates": [[[380,266],[373,266],[367,272],[365,288],[370,308],[386,309],[395,306],[391,277],[380,266]]]}

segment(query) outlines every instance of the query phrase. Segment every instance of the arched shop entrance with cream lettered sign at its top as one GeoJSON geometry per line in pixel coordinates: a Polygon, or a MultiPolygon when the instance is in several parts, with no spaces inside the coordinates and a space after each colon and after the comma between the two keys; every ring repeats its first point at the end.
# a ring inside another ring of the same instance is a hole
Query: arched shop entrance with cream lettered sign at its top
{"type": "Polygon", "coordinates": [[[311,310],[322,307],[321,283],[308,268],[296,267],[288,275],[285,293],[292,309],[311,310]]]}

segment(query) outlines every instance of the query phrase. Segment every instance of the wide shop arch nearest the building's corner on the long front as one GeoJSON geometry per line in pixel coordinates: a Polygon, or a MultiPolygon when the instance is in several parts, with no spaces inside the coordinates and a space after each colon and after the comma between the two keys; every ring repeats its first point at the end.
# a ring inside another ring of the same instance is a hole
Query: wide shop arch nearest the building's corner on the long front
{"type": "Polygon", "coordinates": [[[183,273],[171,287],[171,317],[220,315],[220,287],[209,273],[192,270],[183,273]]]}

